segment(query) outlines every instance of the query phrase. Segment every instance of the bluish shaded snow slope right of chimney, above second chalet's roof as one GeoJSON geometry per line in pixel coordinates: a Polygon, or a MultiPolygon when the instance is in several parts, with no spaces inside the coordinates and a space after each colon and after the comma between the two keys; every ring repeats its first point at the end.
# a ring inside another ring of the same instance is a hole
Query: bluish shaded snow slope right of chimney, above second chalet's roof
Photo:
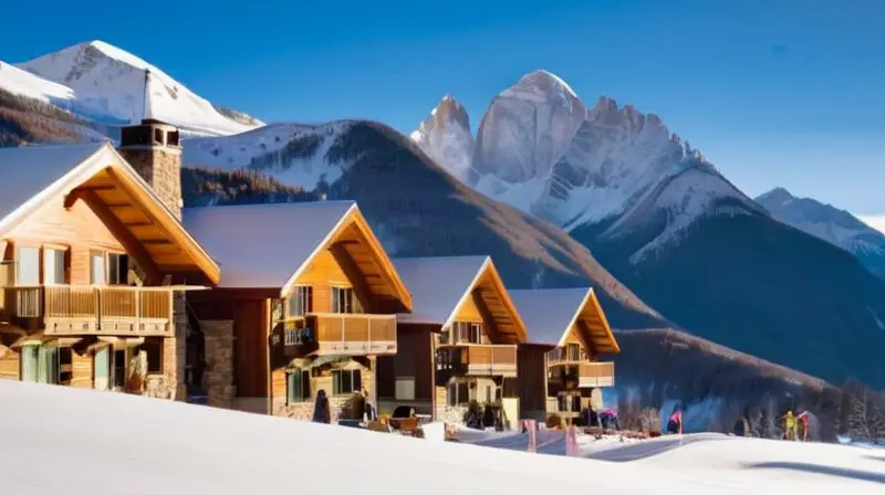
{"type": "Polygon", "coordinates": [[[267,172],[282,183],[314,190],[337,180],[350,165],[330,156],[351,123],[271,124],[236,136],[197,137],[184,147],[189,167],[267,172]]]}

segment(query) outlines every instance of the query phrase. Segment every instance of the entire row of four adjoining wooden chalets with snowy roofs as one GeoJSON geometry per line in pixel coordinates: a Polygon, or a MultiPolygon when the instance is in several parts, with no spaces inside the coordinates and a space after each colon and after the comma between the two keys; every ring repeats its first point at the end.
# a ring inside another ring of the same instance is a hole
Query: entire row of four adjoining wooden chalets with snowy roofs
{"type": "Polygon", "coordinates": [[[355,391],[461,422],[575,415],[613,385],[591,289],[489,256],[391,260],[356,203],[181,209],[178,129],[0,149],[0,378],[310,420],[355,391]],[[580,402],[580,404],[579,404],[580,402]]]}

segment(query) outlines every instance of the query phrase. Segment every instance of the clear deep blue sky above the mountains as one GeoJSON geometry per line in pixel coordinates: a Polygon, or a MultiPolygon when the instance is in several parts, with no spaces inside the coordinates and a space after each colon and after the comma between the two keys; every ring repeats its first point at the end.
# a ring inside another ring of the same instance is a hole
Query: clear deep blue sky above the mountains
{"type": "Polygon", "coordinates": [[[546,69],[660,115],[748,194],[885,215],[884,24],[876,0],[6,0],[0,60],[100,39],[267,122],[402,131],[446,93],[476,130],[546,69]]]}

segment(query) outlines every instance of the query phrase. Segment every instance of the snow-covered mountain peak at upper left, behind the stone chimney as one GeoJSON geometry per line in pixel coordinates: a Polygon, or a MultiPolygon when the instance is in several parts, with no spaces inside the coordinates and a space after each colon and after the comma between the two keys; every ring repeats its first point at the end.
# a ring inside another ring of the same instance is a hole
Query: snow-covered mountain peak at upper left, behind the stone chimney
{"type": "Polygon", "coordinates": [[[69,46],[19,64],[20,69],[73,92],[71,110],[104,124],[125,124],[145,115],[145,71],[150,71],[149,114],[187,134],[223,136],[257,126],[229,118],[160,69],[102,41],[69,46]]]}

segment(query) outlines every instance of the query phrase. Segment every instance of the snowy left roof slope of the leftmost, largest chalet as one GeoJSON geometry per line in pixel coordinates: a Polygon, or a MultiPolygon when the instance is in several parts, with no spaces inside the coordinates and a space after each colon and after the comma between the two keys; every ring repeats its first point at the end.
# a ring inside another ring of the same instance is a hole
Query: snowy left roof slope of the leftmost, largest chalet
{"type": "Polygon", "coordinates": [[[0,223],[104,146],[90,143],[0,148],[0,223]]]}

